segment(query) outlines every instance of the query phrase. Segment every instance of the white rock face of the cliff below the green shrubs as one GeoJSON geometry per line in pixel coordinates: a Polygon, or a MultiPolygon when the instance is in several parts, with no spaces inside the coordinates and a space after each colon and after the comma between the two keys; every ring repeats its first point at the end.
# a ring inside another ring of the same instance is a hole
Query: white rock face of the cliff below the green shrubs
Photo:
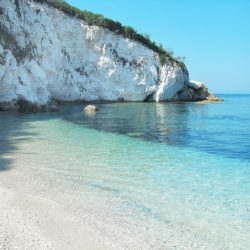
{"type": "Polygon", "coordinates": [[[206,99],[177,63],[47,4],[0,0],[0,103],[206,99]]]}

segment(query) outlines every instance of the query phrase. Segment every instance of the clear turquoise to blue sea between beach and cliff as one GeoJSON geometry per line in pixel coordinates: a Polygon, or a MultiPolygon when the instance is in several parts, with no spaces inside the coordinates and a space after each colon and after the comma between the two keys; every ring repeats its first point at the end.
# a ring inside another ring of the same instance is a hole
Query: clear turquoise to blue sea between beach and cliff
{"type": "Polygon", "coordinates": [[[250,249],[250,95],[220,97],[2,113],[0,174],[74,193],[114,249],[250,249]]]}

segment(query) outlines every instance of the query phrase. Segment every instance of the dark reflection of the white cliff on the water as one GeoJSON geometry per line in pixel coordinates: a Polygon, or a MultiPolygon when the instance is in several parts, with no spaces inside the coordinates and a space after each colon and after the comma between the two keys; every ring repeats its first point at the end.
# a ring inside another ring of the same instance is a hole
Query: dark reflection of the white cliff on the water
{"type": "Polygon", "coordinates": [[[98,105],[100,111],[88,115],[80,106],[67,105],[63,118],[99,131],[183,146],[189,139],[188,106],[186,103],[113,103],[98,105]]]}

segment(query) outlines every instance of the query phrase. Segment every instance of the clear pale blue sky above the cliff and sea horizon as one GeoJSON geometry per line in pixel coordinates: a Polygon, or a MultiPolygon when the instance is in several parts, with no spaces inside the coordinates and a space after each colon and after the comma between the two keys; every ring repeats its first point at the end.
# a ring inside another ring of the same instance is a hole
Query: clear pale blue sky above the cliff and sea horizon
{"type": "Polygon", "coordinates": [[[213,93],[250,93],[250,0],[67,0],[184,56],[213,93]]]}

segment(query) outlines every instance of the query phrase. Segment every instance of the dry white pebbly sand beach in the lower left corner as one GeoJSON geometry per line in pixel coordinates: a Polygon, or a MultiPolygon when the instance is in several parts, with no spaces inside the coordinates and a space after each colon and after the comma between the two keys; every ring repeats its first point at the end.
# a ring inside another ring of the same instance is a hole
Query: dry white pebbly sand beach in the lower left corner
{"type": "Polygon", "coordinates": [[[110,249],[82,218],[41,197],[16,170],[0,172],[0,177],[1,250],[110,249]]]}

